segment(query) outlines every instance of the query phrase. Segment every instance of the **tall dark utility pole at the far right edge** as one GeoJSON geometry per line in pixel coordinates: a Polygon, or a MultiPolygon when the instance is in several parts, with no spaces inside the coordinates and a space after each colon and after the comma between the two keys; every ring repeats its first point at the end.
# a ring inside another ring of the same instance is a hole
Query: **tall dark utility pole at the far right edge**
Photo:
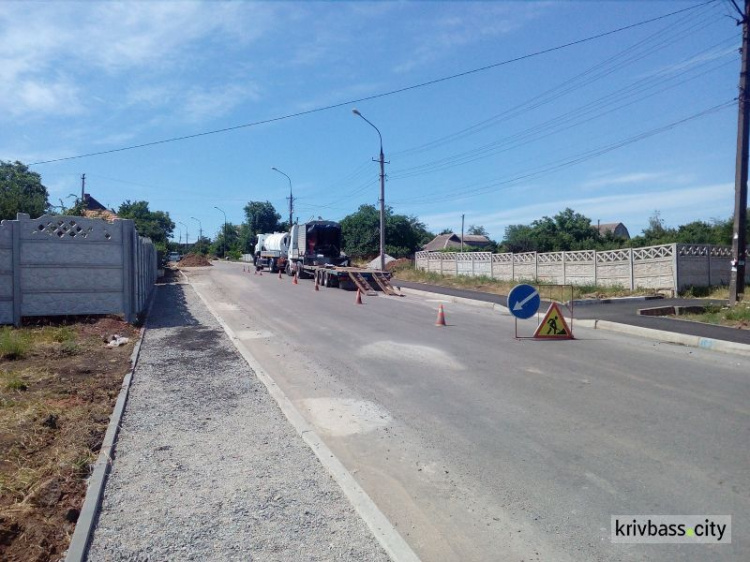
{"type": "MultiPolygon", "coordinates": [[[[737,11],[737,4],[732,2],[737,11]]],[[[732,236],[732,275],[729,281],[729,304],[735,306],[745,293],[745,254],[747,253],[747,163],[748,163],[748,126],[750,122],[750,104],[748,104],[748,17],[750,0],[745,0],[745,11],[740,12],[742,19],[742,67],[740,68],[740,91],[738,97],[737,118],[737,160],[734,175],[734,235],[732,236]]]]}

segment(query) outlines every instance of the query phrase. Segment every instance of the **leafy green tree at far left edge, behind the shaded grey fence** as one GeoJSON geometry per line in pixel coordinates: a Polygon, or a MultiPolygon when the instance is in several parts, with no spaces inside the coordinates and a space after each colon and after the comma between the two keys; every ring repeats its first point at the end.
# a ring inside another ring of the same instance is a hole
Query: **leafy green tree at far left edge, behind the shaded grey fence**
{"type": "Polygon", "coordinates": [[[42,177],[21,162],[0,160],[0,220],[12,220],[17,213],[33,218],[50,210],[49,193],[42,177]]]}

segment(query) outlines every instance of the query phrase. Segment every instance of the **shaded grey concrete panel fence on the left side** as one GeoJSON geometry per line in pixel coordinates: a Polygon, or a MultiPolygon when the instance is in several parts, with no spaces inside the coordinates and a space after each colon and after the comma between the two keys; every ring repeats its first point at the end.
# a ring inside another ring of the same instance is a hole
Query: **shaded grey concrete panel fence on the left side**
{"type": "Polygon", "coordinates": [[[44,215],[0,223],[0,324],[24,316],[123,314],[145,309],[156,250],[131,220],[44,215]]]}

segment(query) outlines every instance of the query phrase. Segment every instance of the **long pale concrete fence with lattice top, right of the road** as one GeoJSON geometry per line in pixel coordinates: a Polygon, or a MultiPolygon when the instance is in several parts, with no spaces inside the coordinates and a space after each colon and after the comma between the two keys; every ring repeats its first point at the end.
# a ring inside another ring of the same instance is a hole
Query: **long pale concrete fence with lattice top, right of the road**
{"type": "MultiPolygon", "coordinates": [[[[443,275],[485,275],[504,281],[680,291],[728,284],[731,253],[731,248],[705,244],[522,254],[417,252],[416,267],[443,275]]],[[[747,279],[750,281],[750,271],[747,279]]]]}

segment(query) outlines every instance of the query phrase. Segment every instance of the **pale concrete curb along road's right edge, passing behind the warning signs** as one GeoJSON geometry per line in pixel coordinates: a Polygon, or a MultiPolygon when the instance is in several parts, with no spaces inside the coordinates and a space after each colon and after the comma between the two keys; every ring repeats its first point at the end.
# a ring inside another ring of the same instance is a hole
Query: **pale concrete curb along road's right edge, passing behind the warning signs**
{"type": "MultiPolygon", "coordinates": [[[[409,287],[401,287],[401,292],[406,294],[418,295],[428,298],[440,299],[447,302],[455,302],[466,304],[470,306],[477,306],[480,308],[489,308],[492,310],[499,310],[503,313],[510,314],[508,309],[501,304],[491,303],[486,301],[478,301],[474,299],[467,299],[464,297],[454,297],[451,295],[444,295],[442,293],[433,293],[430,291],[423,291],[421,289],[410,289],[409,287]]],[[[640,297],[635,297],[640,299],[640,297]]],[[[646,299],[643,299],[646,300],[646,299]]],[[[581,328],[592,328],[594,330],[609,330],[611,332],[620,332],[622,334],[628,334],[631,336],[638,336],[641,338],[653,339],[661,342],[675,343],[678,345],[684,345],[688,347],[698,347],[700,349],[707,349],[709,351],[718,351],[720,353],[731,353],[734,355],[743,355],[750,357],[750,345],[744,343],[735,343],[725,340],[716,340],[713,338],[704,338],[701,336],[691,336],[688,334],[678,334],[676,332],[667,332],[666,330],[654,330],[652,328],[642,328],[640,326],[632,326],[630,324],[621,324],[620,322],[612,322],[610,320],[587,320],[574,318],[574,325],[581,328]]]]}

